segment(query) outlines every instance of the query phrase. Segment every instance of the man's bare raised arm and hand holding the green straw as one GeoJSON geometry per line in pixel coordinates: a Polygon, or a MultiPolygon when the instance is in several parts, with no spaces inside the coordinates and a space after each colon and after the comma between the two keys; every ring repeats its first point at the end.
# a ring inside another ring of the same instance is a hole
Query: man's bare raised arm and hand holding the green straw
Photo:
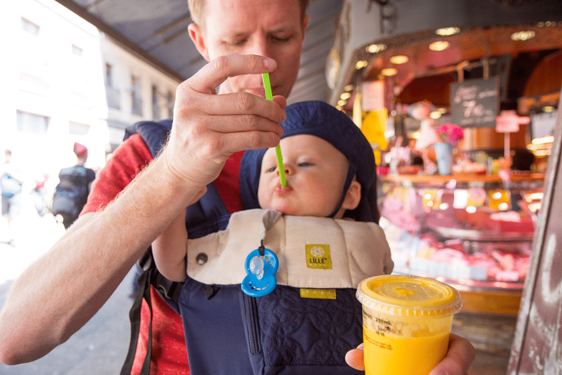
{"type": "Polygon", "coordinates": [[[81,216],[13,283],[0,312],[1,362],[29,362],[65,342],[233,152],[278,144],[284,98],[214,90],[228,76],[276,67],[261,56],[223,56],[180,84],[161,155],[104,210],[81,216]]]}

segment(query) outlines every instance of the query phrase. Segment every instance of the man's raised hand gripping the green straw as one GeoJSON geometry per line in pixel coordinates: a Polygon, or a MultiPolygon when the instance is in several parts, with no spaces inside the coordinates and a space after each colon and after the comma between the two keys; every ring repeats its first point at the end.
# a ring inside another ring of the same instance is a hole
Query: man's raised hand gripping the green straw
{"type": "Polygon", "coordinates": [[[230,76],[269,73],[276,67],[267,57],[221,56],[179,85],[174,126],[162,155],[174,175],[205,186],[232,153],[277,146],[283,134],[279,123],[286,118],[284,97],[268,101],[247,92],[215,93],[230,76]]]}

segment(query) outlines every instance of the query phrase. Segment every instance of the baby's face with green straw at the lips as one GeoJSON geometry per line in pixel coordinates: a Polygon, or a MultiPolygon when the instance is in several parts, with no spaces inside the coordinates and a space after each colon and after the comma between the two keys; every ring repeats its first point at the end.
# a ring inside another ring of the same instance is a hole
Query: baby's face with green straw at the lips
{"type": "Polygon", "coordinates": [[[285,215],[328,216],[343,195],[348,161],[315,135],[298,134],[280,142],[287,186],[281,187],[275,149],[265,152],[257,191],[262,209],[285,215]]]}

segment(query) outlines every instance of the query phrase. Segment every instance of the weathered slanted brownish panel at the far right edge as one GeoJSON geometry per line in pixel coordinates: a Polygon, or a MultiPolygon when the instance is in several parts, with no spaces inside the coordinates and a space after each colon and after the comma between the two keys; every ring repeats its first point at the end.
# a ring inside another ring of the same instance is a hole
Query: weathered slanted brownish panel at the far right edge
{"type": "Polygon", "coordinates": [[[561,153],[562,113],[559,111],[545,175],[543,209],[534,233],[508,374],[559,374],[562,368],[561,153]]]}

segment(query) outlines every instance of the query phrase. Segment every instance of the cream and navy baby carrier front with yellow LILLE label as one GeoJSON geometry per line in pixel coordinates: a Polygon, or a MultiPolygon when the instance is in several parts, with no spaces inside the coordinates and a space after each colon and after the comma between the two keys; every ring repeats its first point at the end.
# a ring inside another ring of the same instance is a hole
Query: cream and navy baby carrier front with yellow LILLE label
{"type": "Polygon", "coordinates": [[[179,308],[191,373],[357,373],[345,363],[362,342],[357,284],[392,270],[382,229],[271,211],[239,211],[225,231],[188,240],[179,308]],[[241,281],[261,243],[279,260],[277,286],[254,297],[241,281]]]}

